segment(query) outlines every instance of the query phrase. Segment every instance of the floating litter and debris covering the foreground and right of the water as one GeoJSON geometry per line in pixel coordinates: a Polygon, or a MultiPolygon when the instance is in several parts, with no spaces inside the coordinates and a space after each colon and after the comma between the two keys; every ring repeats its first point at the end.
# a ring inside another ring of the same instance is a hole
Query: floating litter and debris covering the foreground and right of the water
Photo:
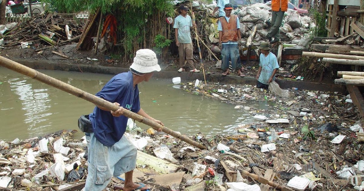
{"type": "MultiPolygon", "coordinates": [[[[189,136],[206,150],[130,120],[124,136],[139,150],[134,182],[154,191],[364,190],[364,131],[349,95],[289,90],[281,98],[252,85],[199,81],[181,87],[237,104],[248,117],[229,135],[189,136]],[[244,106],[251,101],[275,110],[244,106]]],[[[87,140],[72,140],[73,132],[1,141],[0,190],[81,190],[87,140]]],[[[108,188],[122,189],[123,177],[112,178],[108,188]]]]}

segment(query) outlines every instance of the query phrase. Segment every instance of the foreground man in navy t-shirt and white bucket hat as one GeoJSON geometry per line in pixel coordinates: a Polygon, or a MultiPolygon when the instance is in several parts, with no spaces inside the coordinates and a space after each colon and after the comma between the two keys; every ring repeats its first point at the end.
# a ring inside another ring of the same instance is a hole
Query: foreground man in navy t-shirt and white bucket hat
{"type": "Polygon", "coordinates": [[[89,116],[94,132],[90,133],[88,145],[86,191],[102,191],[113,175],[116,177],[124,173],[125,191],[149,189],[144,184],[132,182],[137,148],[123,136],[128,118],[122,114],[124,110],[130,110],[163,125],[161,121],[146,114],[139,102],[138,84],[149,81],[154,71],[161,71],[157,56],[150,49],[140,49],[134,57],[130,71],[112,77],[96,93],[96,96],[120,106],[120,109],[110,111],[96,106],[89,116]]]}

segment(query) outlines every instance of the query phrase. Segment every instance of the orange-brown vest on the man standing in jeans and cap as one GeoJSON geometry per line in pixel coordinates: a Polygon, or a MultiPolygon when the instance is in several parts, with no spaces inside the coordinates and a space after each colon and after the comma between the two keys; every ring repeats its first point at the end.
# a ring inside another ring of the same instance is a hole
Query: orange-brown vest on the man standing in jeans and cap
{"type": "MultiPolygon", "coordinates": [[[[225,17],[221,17],[219,21],[221,22],[222,27],[222,39],[223,43],[227,43],[228,41],[238,41],[238,31],[237,31],[237,16],[230,15],[229,23],[227,23],[225,17]]],[[[240,24],[240,23],[239,23],[240,24]]]]}

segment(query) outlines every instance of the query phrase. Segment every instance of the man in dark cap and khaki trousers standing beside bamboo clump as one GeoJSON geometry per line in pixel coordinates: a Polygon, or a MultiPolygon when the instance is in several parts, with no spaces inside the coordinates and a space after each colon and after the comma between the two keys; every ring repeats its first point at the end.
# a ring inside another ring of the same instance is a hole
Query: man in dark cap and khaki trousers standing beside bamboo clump
{"type": "Polygon", "coordinates": [[[187,15],[188,7],[185,5],[179,6],[179,13],[174,19],[174,38],[176,45],[178,46],[179,54],[179,69],[178,72],[185,71],[185,68],[191,69],[190,72],[199,72],[193,65],[193,46],[191,39],[191,29],[196,27],[192,25],[192,20],[189,15],[187,15]],[[187,67],[185,61],[187,60],[187,67]]]}

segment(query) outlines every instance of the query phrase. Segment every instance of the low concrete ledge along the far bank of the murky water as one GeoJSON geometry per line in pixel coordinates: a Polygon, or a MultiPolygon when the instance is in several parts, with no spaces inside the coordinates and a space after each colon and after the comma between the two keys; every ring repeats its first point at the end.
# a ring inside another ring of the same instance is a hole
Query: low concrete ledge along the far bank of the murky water
{"type": "MultiPolygon", "coordinates": [[[[33,69],[49,69],[49,70],[60,70],[70,72],[87,72],[87,73],[104,73],[104,74],[118,74],[121,72],[129,71],[129,68],[119,67],[105,67],[98,65],[78,65],[78,64],[67,64],[67,63],[54,63],[51,61],[44,60],[14,60],[17,63],[26,65],[33,69]]],[[[173,77],[181,77],[185,81],[193,81],[196,79],[203,80],[203,73],[192,73],[192,72],[174,72],[174,71],[162,71],[156,72],[153,77],[172,79],[173,77]]],[[[220,73],[206,74],[206,81],[229,83],[229,84],[249,84],[256,85],[257,80],[254,77],[239,77],[239,76],[222,76],[220,73]]],[[[312,90],[312,91],[327,91],[327,92],[347,92],[345,85],[337,84],[324,84],[307,81],[292,81],[292,80],[276,80],[282,89],[296,87],[298,90],[312,90]]]]}

